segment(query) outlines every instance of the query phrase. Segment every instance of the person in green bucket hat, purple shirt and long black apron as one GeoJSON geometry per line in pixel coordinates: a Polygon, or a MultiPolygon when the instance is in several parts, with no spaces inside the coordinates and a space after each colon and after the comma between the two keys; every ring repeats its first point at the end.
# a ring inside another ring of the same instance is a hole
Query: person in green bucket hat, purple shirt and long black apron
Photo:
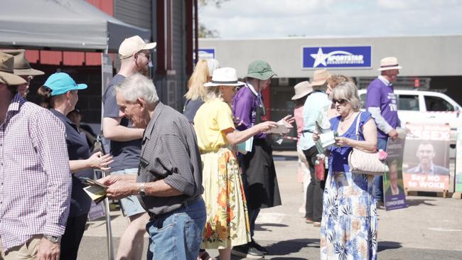
{"type": "MultiPolygon", "coordinates": [[[[262,122],[266,111],[261,91],[269,86],[274,75],[276,74],[267,62],[256,60],[250,63],[245,76],[247,84],[240,88],[232,102],[232,113],[240,121],[238,130],[242,131],[262,122]]],[[[254,257],[267,254],[267,249],[253,239],[255,220],[260,208],[281,205],[272,146],[265,140],[266,137],[266,134],[254,136],[252,151],[240,156],[252,242],[233,247],[231,254],[236,256],[254,257]]]]}

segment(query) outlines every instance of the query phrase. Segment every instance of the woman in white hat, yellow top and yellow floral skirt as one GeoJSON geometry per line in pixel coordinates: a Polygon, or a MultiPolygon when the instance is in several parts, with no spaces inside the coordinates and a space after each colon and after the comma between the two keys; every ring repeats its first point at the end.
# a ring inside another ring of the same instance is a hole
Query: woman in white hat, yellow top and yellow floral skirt
{"type": "Polygon", "coordinates": [[[273,121],[236,131],[231,112],[237,81],[236,70],[222,67],[206,83],[205,103],[194,117],[194,128],[203,162],[203,198],[207,222],[203,249],[218,249],[220,260],[231,258],[231,247],[250,242],[249,218],[240,168],[230,147],[255,134],[276,127],[273,121]]]}

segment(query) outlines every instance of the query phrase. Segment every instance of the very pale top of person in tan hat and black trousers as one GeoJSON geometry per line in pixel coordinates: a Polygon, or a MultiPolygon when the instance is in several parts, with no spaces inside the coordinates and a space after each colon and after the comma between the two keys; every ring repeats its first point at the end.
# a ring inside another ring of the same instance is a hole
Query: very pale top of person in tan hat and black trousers
{"type": "Polygon", "coordinates": [[[316,129],[316,120],[321,114],[321,109],[331,104],[328,95],[322,91],[314,91],[306,97],[303,104],[303,132],[300,136],[299,145],[302,150],[308,150],[314,146],[313,131],[316,129]]]}

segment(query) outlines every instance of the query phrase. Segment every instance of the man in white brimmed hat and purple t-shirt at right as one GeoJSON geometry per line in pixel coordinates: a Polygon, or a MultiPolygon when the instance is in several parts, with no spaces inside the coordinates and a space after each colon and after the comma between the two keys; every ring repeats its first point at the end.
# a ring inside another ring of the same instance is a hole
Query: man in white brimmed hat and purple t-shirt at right
{"type": "MultiPolygon", "coordinates": [[[[367,86],[366,109],[377,124],[377,148],[385,151],[387,141],[397,139],[396,128],[401,126],[398,118],[397,98],[393,92],[393,82],[396,81],[399,69],[395,57],[387,57],[380,60],[381,73],[377,79],[372,80],[367,86]]],[[[375,177],[375,198],[378,202],[383,202],[382,176],[375,177]]]]}

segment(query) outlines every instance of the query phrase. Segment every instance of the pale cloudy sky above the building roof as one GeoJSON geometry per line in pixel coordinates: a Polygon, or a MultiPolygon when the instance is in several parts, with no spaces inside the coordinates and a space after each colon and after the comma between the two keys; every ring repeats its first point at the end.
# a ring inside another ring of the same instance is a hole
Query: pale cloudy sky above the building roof
{"type": "Polygon", "coordinates": [[[200,6],[220,38],[462,34],[462,0],[230,0],[200,6]]]}

